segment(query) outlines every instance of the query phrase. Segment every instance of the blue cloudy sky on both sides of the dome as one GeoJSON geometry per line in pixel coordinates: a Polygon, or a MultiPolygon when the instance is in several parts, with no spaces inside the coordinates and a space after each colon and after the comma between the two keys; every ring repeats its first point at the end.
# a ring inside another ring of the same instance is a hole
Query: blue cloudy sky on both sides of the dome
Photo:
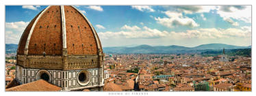
{"type": "MultiPolygon", "coordinates": [[[[5,6],[5,44],[18,44],[46,5],[5,6]]],[[[75,5],[103,47],[251,46],[251,5],[75,5]]]]}

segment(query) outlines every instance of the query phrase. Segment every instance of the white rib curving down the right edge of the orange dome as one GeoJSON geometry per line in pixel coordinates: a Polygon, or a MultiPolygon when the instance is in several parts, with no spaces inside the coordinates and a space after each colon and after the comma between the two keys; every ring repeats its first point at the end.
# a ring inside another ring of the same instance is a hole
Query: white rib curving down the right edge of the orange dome
{"type": "Polygon", "coordinates": [[[101,48],[101,44],[100,44],[101,42],[99,41],[99,37],[98,37],[96,31],[94,30],[94,27],[92,27],[92,24],[90,23],[90,21],[76,7],[74,7],[73,5],[71,5],[71,7],[73,7],[75,10],[77,10],[77,12],[79,12],[79,14],[81,14],[84,17],[84,19],[86,19],[86,21],[88,22],[90,28],[92,29],[92,33],[93,33],[93,35],[94,35],[94,37],[96,39],[97,49],[98,49],[97,52],[99,52],[99,50],[102,52],[102,48],[101,48]]]}

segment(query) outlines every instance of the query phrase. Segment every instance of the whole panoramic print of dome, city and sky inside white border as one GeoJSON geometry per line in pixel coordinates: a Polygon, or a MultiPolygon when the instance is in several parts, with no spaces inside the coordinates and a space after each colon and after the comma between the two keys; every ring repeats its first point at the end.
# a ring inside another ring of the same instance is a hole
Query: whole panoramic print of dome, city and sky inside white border
{"type": "Polygon", "coordinates": [[[5,91],[252,91],[251,5],[5,5],[5,91]]]}

